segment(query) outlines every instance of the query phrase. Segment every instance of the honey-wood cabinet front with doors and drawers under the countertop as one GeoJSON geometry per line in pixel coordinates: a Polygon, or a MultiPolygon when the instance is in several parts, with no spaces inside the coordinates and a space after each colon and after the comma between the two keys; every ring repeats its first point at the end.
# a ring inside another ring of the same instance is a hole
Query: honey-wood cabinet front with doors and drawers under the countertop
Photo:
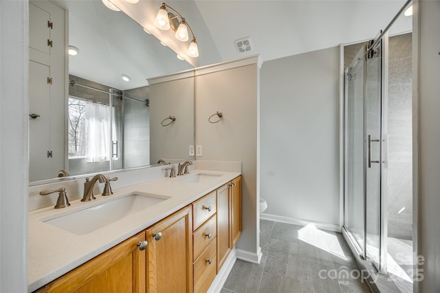
{"type": "Polygon", "coordinates": [[[204,293],[240,234],[241,176],[36,292],[204,293]]]}

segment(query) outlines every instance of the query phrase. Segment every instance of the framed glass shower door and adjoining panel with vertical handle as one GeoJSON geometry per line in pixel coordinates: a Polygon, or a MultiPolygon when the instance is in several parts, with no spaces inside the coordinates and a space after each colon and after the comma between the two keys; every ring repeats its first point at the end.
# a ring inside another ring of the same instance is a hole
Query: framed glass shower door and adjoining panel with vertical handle
{"type": "MultiPolygon", "coordinates": [[[[385,40],[386,42],[386,40],[385,40]]],[[[386,272],[382,41],[363,46],[345,74],[344,227],[364,259],[386,272]],[[382,189],[382,190],[381,190],[382,189]]],[[[384,85],[385,84],[385,85],[384,85]]]]}

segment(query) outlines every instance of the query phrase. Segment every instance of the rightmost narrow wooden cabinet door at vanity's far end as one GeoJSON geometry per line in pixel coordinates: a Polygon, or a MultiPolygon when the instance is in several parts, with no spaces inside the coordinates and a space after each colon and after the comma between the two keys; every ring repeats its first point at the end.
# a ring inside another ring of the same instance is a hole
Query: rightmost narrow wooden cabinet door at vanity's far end
{"type": "Polygon", "coordinates": [[[230,248],[241,235],[241,176],[231,182],[230,192],[230,248]]]}

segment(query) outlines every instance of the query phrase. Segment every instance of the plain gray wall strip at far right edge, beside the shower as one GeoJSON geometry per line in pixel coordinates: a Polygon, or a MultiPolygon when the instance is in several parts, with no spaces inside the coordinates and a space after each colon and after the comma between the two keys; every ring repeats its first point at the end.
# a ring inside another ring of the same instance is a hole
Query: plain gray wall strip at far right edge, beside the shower
{"type": "Polygon", "coordinates": [[[414,58],[417,71],[412,96],[413,159],[417,211],[417,254],[425,263],[417,292],[440,290],[440,1],[414,1],[414,58]]]}

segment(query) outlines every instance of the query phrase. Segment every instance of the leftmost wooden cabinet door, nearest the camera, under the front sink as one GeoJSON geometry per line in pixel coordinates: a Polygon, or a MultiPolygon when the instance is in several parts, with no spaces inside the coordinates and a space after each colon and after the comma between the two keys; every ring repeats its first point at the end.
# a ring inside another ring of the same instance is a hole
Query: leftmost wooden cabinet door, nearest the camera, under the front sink
{"type": "Polygon", "coordinates": [[[145,232],[126,239],[36,292],[145,292],[144,240],[145,232]]]}

